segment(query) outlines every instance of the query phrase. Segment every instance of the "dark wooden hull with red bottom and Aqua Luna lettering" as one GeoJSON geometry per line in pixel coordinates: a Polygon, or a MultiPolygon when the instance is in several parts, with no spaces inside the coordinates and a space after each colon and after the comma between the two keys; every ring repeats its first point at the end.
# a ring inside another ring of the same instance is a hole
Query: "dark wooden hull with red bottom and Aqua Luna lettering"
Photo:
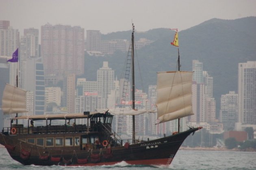
{"type": "Polygon", "coordinates": [[[79,146],[43,148],[18,140],[18,135],[2,133],[0,144],[7,148],[14,160],[24,165],[100,166],[113,165],[121,161],[128,164],[169,165],[182,142],[198,129],[200,128],[130,146],[89,150],[82,150],[79,146]]]}

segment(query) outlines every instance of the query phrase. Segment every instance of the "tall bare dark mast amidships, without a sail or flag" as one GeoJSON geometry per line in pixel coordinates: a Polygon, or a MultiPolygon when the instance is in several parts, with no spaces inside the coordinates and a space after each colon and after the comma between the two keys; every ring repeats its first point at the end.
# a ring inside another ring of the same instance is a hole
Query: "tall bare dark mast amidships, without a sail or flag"
{"type": "MultiPolygon", "coordinates": [[[[132,109],[135,109],[135,78],[134,78],[134,25],[132,23],[132,109]]],[[[135,115],[132,115],[132,143],[135,143],[135,115]]]]}

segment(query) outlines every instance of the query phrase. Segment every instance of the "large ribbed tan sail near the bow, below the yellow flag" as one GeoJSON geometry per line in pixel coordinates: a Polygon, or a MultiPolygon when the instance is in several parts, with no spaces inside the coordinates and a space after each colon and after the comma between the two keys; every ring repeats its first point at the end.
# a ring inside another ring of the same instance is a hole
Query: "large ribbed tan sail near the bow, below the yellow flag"
{"type": "Polygon", "coordinates": [[[192,71],[157,73],[156,107],[159,123],[193,115],[192,71]]]}

